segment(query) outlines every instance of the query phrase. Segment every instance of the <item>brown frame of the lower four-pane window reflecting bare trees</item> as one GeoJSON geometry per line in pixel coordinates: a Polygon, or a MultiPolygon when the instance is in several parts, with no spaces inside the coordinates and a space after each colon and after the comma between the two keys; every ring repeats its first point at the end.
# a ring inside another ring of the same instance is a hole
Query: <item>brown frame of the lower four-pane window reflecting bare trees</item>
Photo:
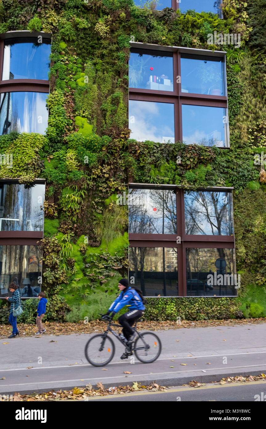
{"type": "MultiPolygon", "coordinates": [[[[129,233],[129,247],[159,247],[159,248],[177,248],[177,266],[178,266],[178,296],[187,296],[187,278],[186,278],[186,248],[224,248],[235,249],[234,233],[230,236],[216,235],[187,235],[185,234],[185,201],[184,193],[186,190],[177,185],[158,185],[130,183],[129,189],[172,189],[176,190],[176,234],[134,234],[129,233]],[[176,243],[177,237],[181,238],[181,243],[176,243]]],[[[197,188],[202,191],[221,191],[233,192],[233,187],[206,187],[197,188]]],[[[233,197],[233,196],[232,196],[233,197]]],[[[231,222],[233,224],[233,198],[231,205],[231,222]]],[[[235,258],[233,262],[234,272],[236,273],[235,258]]],[[[236,296],[227,295],[228,296],[236,296]]],[[[218,296],[218,295],[217,295],[218,296]]],[[[224,297],[224,295],[223,295],[224,297]]]]}

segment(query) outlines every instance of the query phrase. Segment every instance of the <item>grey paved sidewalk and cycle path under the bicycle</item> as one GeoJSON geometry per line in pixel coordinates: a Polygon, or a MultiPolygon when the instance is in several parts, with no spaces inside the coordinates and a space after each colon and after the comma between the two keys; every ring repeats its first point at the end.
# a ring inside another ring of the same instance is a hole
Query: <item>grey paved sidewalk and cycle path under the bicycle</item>
{"type": "Polygon", "coordinates": [[[193,379],[208,382],[229,375],[257,375],[266,372],[265,331],[264,323],[157,331],[163,349],[151,364],[137,359],[134,364],[121,361],[123,347],[114,338],[116,353],[106,370],[86,361],[84,346],[91,335],[1,339],[0,393],[95,386],[98,382],[116,386],[157,381],[179,386],[193,379]]]}

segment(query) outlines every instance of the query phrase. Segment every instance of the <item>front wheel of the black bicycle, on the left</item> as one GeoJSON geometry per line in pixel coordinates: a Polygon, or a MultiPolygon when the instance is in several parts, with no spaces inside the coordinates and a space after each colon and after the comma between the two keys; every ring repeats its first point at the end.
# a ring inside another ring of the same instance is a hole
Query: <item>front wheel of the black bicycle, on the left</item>
{"type": "Polygon", "coordinates": [[[108,335],[93,335],[85,346],[86,359],[93,366],[107,365],[113,359],[114,352],[114,341],[108,335]]]}

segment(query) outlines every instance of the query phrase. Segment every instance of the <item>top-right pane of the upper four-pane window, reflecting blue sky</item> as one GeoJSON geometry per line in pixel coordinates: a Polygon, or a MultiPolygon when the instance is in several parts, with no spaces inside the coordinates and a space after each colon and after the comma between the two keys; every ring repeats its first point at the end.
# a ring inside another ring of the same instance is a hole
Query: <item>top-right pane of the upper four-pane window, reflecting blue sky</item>
{"type": "Polygon", "coordinates": [[[181,82],[182,92],[224,95],[223,58],[182,54],[181,82]]]}

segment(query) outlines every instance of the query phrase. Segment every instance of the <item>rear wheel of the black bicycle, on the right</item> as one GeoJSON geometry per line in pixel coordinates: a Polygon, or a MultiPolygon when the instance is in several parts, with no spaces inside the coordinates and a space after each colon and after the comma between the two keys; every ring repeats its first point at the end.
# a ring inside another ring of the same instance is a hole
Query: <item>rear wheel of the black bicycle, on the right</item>
{"type": "Polygon", "coordinates": [[[134,353],[137,359],[142,363],[152,363],[161,354],[161,340],[153,332],[142,332],[141,337],[137,337],[134,343],[134,353]],[[145,347],[142,350],[136,350],[137,347],[145,347]]]}

